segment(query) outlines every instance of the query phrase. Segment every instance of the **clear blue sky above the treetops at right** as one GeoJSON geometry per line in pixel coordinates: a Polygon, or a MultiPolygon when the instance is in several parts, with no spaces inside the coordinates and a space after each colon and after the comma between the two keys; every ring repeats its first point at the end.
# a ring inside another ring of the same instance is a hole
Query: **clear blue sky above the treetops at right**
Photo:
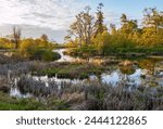
{"type": "MultiPolygon", "coordinates": [[[[127,14],[129,18],[141,20],[142,11],[146,8],[156,8],[163,11],[163,0],[90,0],[89,4],[96,9],[99,2],[104,4],[103,10],[106,15],[111,15],[111,13],[115,14],[111,22],[118,21],[122,13],[127,14]]],[[[105,18],[110,17],[105,16],[105,18]]]]}

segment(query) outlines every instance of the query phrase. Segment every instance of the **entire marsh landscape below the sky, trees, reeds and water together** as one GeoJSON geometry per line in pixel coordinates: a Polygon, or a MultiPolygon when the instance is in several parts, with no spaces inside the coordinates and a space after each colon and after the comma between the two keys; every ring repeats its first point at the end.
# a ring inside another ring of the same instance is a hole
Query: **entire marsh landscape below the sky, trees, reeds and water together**
{"type": "Polygon", "coordinates": [[[163,13],[108,28],[102,8],[76,15],[64,44],[0,38],[0,109],[163,109],[163,13]]]}

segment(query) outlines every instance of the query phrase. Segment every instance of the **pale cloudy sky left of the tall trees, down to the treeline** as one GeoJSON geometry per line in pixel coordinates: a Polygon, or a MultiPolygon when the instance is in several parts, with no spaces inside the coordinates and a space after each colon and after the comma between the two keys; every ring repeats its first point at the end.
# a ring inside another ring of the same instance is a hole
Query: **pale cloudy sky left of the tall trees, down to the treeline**
{"type": "MultiPolygon", "coordinates": [[[[0,0],[0,35],[10,35],[13,25],[22,28],[23,37],[39,37],[47,34],[51,39],[63,41],[75,15],[86,5],[92,8],[89,0],[0,0]]],[[[105,10],[105,24],[118,24],[120,15],[105,10]]]]}

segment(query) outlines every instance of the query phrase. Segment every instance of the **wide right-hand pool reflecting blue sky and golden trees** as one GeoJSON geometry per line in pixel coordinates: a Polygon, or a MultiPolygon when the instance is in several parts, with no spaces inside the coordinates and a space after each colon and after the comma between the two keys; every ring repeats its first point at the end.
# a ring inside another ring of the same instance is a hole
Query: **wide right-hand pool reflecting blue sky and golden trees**
{"type": "Polygon", "coordinates": [[[140,60],[137,65],[118,66],[110,74],[102,74],[105,83],[128,86],[163,87],[163,62],[154,59],[140,60]]]}

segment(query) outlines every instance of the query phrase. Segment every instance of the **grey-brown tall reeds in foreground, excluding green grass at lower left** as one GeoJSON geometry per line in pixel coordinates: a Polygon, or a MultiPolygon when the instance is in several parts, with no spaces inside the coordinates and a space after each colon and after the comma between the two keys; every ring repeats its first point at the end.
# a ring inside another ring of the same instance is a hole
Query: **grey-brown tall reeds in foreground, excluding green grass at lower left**
{"type": "Polygon", "coordinates": [[[96,111],[149,111],[163,109],[163,88],[154,90],[145,86],[133,90],[125,85],[113,87],[97,81],[85,83],[49,82],[49,87],[32,78],[22,78],[18,82],[22,92],[29,92],[48,101],[58,100],[68,104],[70,109],[96,111]]]}

